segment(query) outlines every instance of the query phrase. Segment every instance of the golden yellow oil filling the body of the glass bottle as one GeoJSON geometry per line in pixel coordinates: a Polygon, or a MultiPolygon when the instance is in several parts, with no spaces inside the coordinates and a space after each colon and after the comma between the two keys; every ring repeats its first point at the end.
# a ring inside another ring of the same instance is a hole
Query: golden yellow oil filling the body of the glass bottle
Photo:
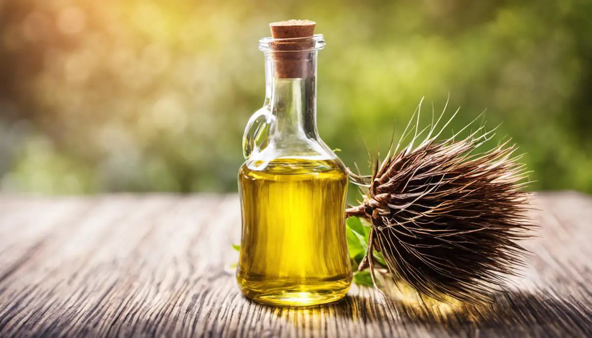
{"type": "Polygon", "coordinates": [[[243,233],[237,280],[244,295],[278,306],[339,300],[352,269],[345,234],[348,186],[334,160],[279,159],[239,171],[243,233]]]}

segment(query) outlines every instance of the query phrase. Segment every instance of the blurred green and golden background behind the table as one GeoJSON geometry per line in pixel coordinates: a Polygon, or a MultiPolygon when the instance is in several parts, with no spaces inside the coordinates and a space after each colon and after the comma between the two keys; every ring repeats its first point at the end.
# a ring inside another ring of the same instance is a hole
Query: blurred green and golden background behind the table
{"type": "Polygon", "coordinates": [[[450,95],[451,131],[487,109],[531,189],[592,193],[590,0],[3,0],[0,190],[237,190],[258,39],[289,18],[326,38],[318,128],[346,164],[450,95]]]}

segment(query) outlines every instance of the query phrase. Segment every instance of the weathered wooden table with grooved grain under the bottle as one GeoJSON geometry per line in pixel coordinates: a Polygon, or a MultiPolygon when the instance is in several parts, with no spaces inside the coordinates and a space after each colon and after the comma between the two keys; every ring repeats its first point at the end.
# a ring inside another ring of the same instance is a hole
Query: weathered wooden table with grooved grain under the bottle
{"type": "Polygon", "coordinates": [[[239,293],[236,195],[0,196],[0,337],[590,337],[592,198],[535,199],[525,278],[491,306],[354,286],[338,304],[296,310],[239,293]]]}

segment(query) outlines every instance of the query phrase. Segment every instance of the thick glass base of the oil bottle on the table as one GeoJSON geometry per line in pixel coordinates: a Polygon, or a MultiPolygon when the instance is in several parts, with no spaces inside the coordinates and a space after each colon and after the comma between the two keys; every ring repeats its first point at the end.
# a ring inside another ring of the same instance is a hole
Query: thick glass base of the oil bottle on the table
{"type": "Polygon", "coordinates": [[[348,293],[350,281],[279,288],[277,285],[249,282],[239,278],[239,286],[247,298],[260,304],[281,307],[310,307],[341,300],[348,293]]]}

